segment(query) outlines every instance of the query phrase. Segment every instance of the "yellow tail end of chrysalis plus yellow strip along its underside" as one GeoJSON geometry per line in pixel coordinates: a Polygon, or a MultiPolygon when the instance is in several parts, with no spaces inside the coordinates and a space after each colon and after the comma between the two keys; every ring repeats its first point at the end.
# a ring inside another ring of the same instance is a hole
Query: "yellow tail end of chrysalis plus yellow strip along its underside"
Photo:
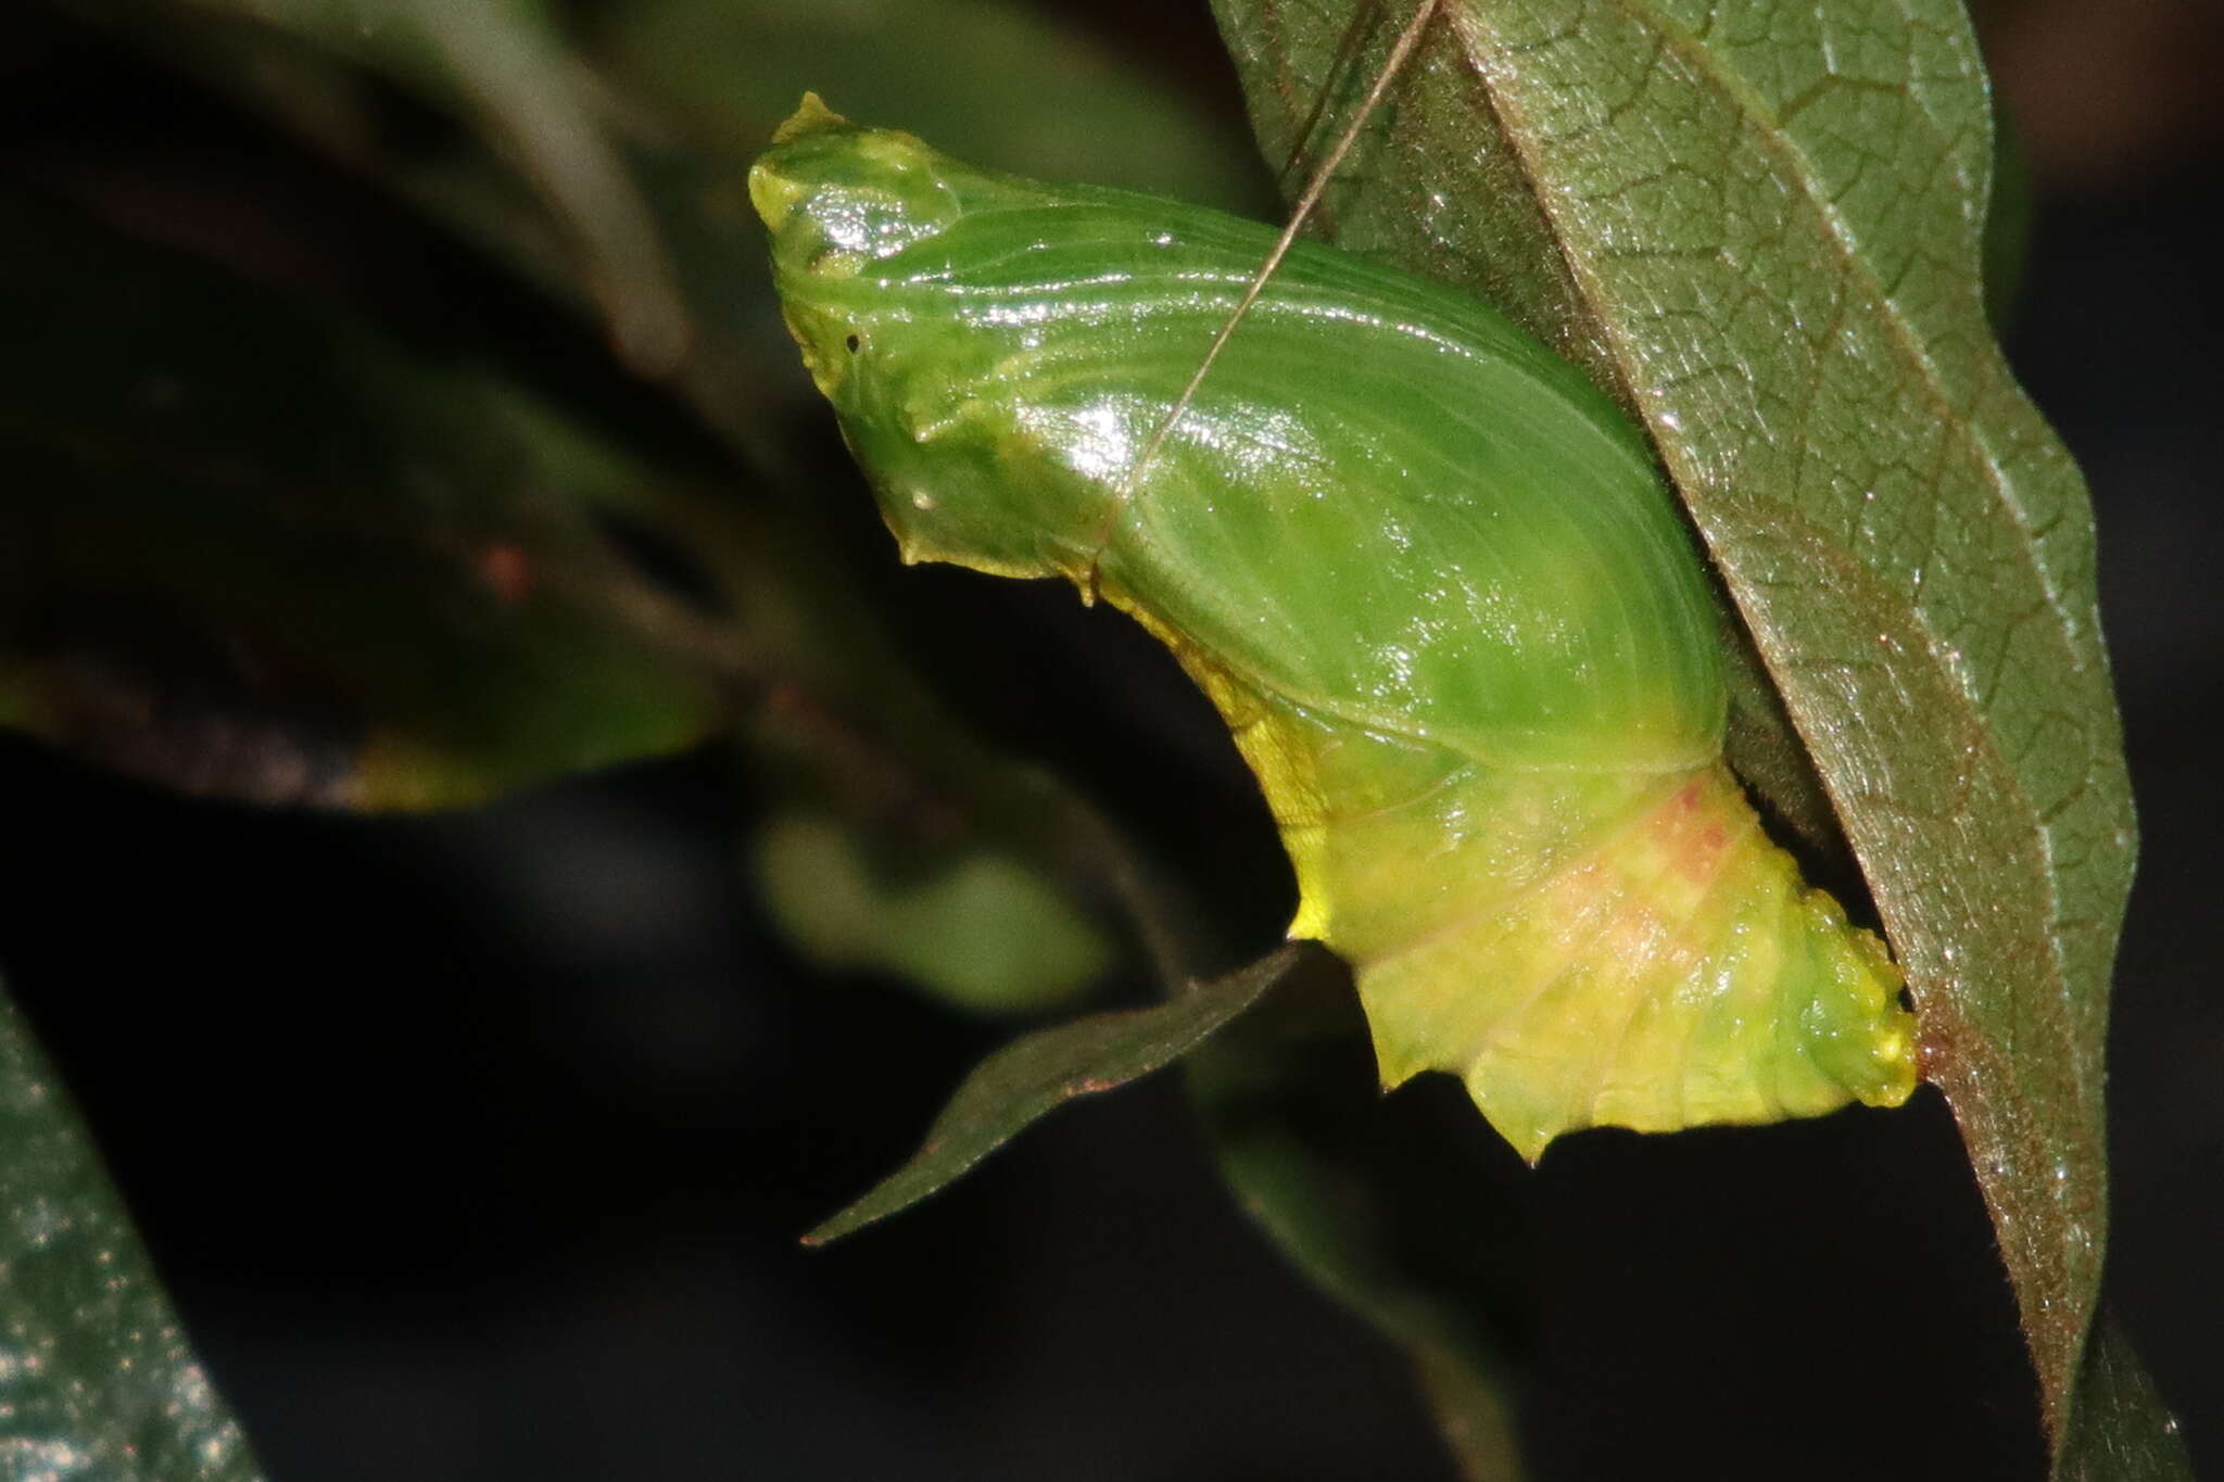
{"type": "MultiPolygon", "coordinates": [[[[1459,1075],[1530,1162],[1583,1126],[1781,1122],[1915,1091],[1915,1020],[1884,942],[1799,878],[1721,762],[1599,778],[1599,795],[1628,802],[1592,849],[1519,889],[1479,891],[1472,860],[1430,818],[1339,807],[1321,744],[1339,727],[1292,720],[1121,589],[1103,595],[1172,649],[1228,722],[1297,871],[1288,935],[1352,964],[1383,1089],[1459,1075]],[[1397,922],[1430,898],[1475,904],[1399,940],[1397,922]]],[[[1466,793],[1519,829],[1577,807],[1566,798],[1586,787],[1472,764],[1434,802],[1466,793]]]]}

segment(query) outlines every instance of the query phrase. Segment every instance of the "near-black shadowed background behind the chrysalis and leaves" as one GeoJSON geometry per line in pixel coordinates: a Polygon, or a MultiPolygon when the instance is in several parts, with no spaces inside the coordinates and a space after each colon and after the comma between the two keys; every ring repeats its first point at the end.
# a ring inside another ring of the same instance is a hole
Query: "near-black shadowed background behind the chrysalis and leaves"
{"type": "MultiPolygon", "coordinates": [[[[1065,9],[1237,109],[1201,2],[1065,9]]],[[[1979,20],[2035,184],[2010,358],[2093,484],[2144,827],[2108,1280],[2224,1469],[2224,24],[2204,0],[1979,20]]],[[[0,13],[0,173],[403,313],[478,293],[367,187],[62,13],[0,13]]],[[[832,429],[794,440],[847,498],[832,429]]],[[[861,489],[854,509],[876,540],[861,489]]],[[[878,598],[987,735],[1134,820],[1232,935],[1277,935],[1263,809],[1163,653],[1063,591],[887,567],[878,598]]],[[[1234,1211],[1176,1078],[801,1249],[1012,1024],[805,967],[743,869],[763,809],[721,747],[347,818],[180,800],[0,738],[0,973],[274,1478],[1450,1475],[1403,1360],[1234,1211]]],[[[1468,1129],[1497,1211],[1477,1242],[1535,1282],[1512,1344],[1541,1475],[2035,1475],[2013,1311],[1935,1093],[1590,1133],[1535,1175],[1448,1084],[1354,1115],[1390,1142],[1468,1129]]]]}

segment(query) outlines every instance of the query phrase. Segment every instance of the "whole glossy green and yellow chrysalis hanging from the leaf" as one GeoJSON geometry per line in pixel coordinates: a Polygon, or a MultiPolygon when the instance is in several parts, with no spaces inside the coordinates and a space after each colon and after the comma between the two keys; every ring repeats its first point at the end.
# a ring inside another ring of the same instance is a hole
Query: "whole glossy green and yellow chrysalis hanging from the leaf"
{"type": "Polygon", "coordinates": [[[1528,1158],[1906,1100],[1899,975],[1724,767],[1704,567],[1581,373],[1299,244],[1161,435],[1268,227],[976,171],[814,100],[749,187],[905,558],[1094,578],[1174,651],[1386,1084],[1459,1073],[1528,1158]]]}

